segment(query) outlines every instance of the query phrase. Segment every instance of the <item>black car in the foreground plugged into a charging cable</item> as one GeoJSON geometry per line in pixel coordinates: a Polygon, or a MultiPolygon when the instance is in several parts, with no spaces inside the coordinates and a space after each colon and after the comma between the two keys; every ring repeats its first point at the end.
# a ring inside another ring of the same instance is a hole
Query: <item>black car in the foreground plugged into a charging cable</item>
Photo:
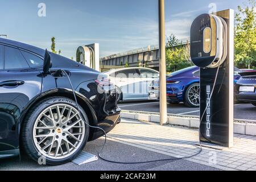
{"type": "Polygon", "coordinates": [[[108,133],[119,122],[121,110],[108,79],[55,53],[48,53],[52,65],[44,73],[47,53],[0,38],[0,159],[23,148],[34,160],[63,164],[104,135],[86,123],[108,133]]]}

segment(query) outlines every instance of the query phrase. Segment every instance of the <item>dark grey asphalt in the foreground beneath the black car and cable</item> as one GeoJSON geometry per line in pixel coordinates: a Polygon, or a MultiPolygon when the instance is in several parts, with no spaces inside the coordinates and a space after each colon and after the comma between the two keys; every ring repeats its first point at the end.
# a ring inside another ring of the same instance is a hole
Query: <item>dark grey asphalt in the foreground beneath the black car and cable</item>
{"type": "MultiPolygon", "coordinates": [[[[84,151],[97,155],[101,150],[104,140],[102,138],[93,142],[88,142],[84,151]]],[[[102,154],[107,159],[119,162],[141,162],[156,159],[166,159],[170,156],[151,152],[141,148],[129,146],[108,140],[106,148],[102,154]]],[[[215,171],[216,168],[204,166],[202,164],[189,162],[187,160],[172,160],[144,164],[116,164],[98,159],[96,162],[82,164],[78,166],[72,162],[60,166],[40,166],[31,160],[26,154],[17,158],[0,160],[0,170],[14,171],[215,171]]]]}

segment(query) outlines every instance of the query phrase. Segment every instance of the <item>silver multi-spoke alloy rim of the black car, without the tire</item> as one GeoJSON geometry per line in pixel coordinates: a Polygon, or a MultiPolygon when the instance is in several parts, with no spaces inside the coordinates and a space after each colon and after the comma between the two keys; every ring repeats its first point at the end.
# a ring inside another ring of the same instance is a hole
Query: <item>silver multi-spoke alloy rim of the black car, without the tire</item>
{"type": "Polygon", "coordinates": [[[85,123],[79,111],[67,104],[47,107],[36,119],[33,139],[40,154],[64,159],[74,154],[85,137],[85,123]]]}

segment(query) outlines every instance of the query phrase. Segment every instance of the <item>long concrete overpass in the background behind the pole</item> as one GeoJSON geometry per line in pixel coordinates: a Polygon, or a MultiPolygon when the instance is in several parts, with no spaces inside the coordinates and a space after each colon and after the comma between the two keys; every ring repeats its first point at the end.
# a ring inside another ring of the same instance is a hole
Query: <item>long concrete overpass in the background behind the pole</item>
{"type": "MultiPolygon", "coordinates": [[[[187,40],[181,40],[181,44],[187,44],[187,40]]],[[[147,67],[159,71],[159,47],[148,46],[132,51],[117,53],[114,55],[102,57],[100,59],[102,65],[108,66],[124,66],[129,67],[147,67]]]]}

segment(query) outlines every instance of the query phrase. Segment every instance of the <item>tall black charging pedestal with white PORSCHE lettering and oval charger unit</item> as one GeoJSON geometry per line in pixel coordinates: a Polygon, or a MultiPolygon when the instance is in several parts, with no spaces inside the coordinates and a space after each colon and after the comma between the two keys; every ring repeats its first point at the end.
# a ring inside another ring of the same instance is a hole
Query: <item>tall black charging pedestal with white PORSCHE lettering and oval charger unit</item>
{"type": "Polygon", "coordinates": [[[197,20],[193,22],[191,27],[191,48],[191,59],[193,63],[200,67],[200,141],[203,145],[209,145],[210,147],[214,145],[232,147],[234,10],[218,11],[212,15],[203,14],[197,17],[197,20]],[[207,16],[211,18],[205,18],[207,16]],[[207,30],[208,27],[214,24],[213,18],[216,20],[215,26],[207,30]],[[219,22],[222,21],[222,24],[225,24],[225,26],[221,26],[223,30],[225,29],[222,34],[218,33],[221,28],[216,25],[219,23],[217,22],[217,18],[219,22]],[[208,36],[205,31],[209,32],[211,36],[208,36]],[[216,31],[217,33],[212,34],[211,31],[216,31]],[[202,38],[200,38],[200,35],[202,38]],[[215,39],[216,44],[213,44],[213,40],[215,39]],[[220,39],[223,39],[223,42],[220,43],[220,39]],[[226,45],[224,45],[225,43],[226,45]],[[223,48],[220,47],[222,44],[224,45],[223,48]],[[199,51],[200,46],[204,49],[203,51],[199,51]],[[217,52],[214,55],[215,57],[212,55],[213,51],[217,52]],[[223,60],[220,60],[221,57],[223,58],[223,56],[220,56],[221,53],[222,55],[226,54],[223,60]],[[207,66],[209,59],[213,61],[207,66]],[[217,63],[217,61],[221,62],[217,63]],[[213,66],[214,64],[215,66],[213,66]],[[216,80],[217,72],[218,76],[216,80]],[[214,82],[216,83],[215,86],[214,82]],[[210,97],[211,93],[212,97],[210,97]]]}

